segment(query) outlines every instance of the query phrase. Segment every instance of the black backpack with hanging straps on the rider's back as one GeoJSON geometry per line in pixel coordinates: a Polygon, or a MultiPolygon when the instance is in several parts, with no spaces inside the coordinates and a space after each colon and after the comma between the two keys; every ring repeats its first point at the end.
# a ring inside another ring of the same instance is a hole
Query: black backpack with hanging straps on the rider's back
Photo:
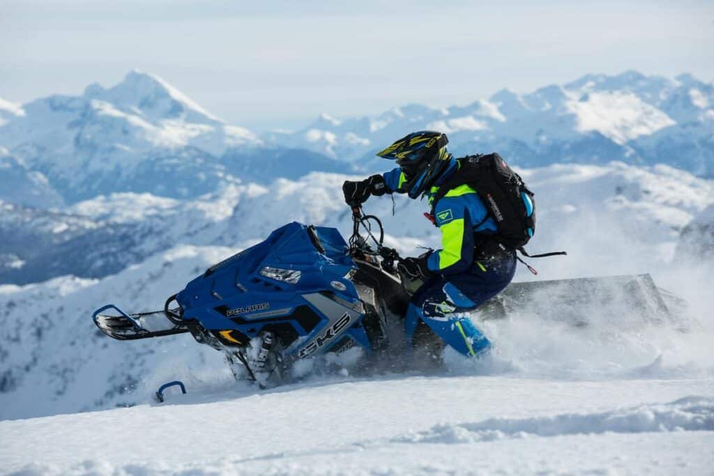
{"type": "MultiPolygon", "coordinates": [[[[443,196],[461,185],[473,188],[483,200],[488,210],[488,218],[493,218],[498,226],[498,233],[492,238],[507,250],[520,250],[529,256],[523,246],[535,233],[535,201],[526,183],[518,173],[511,170],[508,163],[498,153],[488,153],[478,156],[466,156],[458,159],[459,168],[439,186],[431,205],[433,216],[436,203],[443,196]]],[[[482,222],[483,223],[483,222],[482,222]]],[[[481,223],[477,223],[477,228],[481,223]]],[[[533,255],[533,258],[550,256],[559,253],[533,255]]]]}

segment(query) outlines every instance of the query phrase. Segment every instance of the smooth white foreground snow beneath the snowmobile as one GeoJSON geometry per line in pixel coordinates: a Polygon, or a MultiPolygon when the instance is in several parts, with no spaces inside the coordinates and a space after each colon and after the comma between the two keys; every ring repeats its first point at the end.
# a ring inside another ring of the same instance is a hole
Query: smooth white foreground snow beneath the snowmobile
{"type": "Polygon", "coordinates": [[[189,387],[162,405],[0,422],[0,460],[30,475],[702,474],[714,462],[711,385],[453,376],[251,395],[189,387]]]}

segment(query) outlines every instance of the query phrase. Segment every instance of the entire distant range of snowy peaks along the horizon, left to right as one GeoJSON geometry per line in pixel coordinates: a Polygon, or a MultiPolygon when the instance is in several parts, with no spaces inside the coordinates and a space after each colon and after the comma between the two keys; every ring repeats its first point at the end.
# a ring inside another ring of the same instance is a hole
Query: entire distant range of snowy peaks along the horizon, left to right
{"type": "Polygon", "coordinates": [[[115,192],[193,198],[225,183],[382,170],[388,164],[373,153],[418,129],[446,132],[456,155],[499,151],[521,167],[618,160],[714,174],[714,84],[688,74],[590,74],[466,106],[322,114],[298,131],[258,135],[131,71],[81,96],[0,98],[0,200],[56,208],[115,192]]]}

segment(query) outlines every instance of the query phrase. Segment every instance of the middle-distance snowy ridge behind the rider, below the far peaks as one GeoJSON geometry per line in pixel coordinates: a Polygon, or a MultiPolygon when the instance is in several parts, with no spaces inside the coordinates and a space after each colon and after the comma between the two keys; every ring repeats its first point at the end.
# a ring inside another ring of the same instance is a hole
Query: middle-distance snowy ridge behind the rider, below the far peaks
{"type": "MultiPolygon", "coordinates": [[[[669,260],[678,233],[714,201],[709,181],[667,166],[648,169],[612,163],[522,172],[536,193],[539,217],[553,213],[548,210],[559,214],[560,222],[539,226],[541,243],[571,250],[572,243],[579,243],[578,236],[565,234],[563,229],[573,227],[563,227],[561,222],[586,226],[590,209],[604,208],[612,216],[608,216],[607,225],[598,226],[598,231],[627,226],[632,233],[623,236],[633,246],[643,233],[672,240],[670,245],[650,250],[663,261],[669,260]],[[583,211],[588,213],[583,216],[583,211]],[[620,211],[630,218],[609,223],[620,211]]],[[[119,193],[79,202],[64,211],[4,203],[0,215],[0,238],[4,240],[0,283],[36,283],[66,274],[101,278],[175,245],[255,243],[290,221],[336,226],[348,233],[351,215],[341,193],[346,178],[313,172],[297,181],[278,178],[269,186],[231,185],[191,201],[119,193]]],[[[391,245],[406,253],[414,253],[416,243],[438,247],[438,234],[421,218],[423,203],[396,196],[394,206],[393,216],[393,204],[388,199],[373,199],[366,205],[371,213],[383,218],[391,245]]],[[[599,236],[589,233],[593,239],[599,236]]],[[[609,249],[606,242],[601,246],[609,249]]]]}

